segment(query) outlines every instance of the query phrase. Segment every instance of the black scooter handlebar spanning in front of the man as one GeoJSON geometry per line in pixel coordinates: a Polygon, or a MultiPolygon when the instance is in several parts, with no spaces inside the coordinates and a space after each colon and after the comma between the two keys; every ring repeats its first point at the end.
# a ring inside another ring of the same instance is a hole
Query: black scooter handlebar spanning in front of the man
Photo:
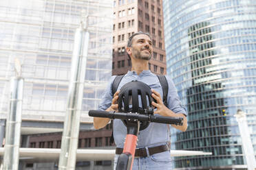
{"type": "Polygon", "coordinates": [[[155,123],[182,125],[182,117],[162,117],[160,115],[145,115],[138,113],[125,112],[107,112],[102,110],[89,110],[90,117],[106,117],[109,119],[131,119],[138,121],[151,121],[155,123]]]}

